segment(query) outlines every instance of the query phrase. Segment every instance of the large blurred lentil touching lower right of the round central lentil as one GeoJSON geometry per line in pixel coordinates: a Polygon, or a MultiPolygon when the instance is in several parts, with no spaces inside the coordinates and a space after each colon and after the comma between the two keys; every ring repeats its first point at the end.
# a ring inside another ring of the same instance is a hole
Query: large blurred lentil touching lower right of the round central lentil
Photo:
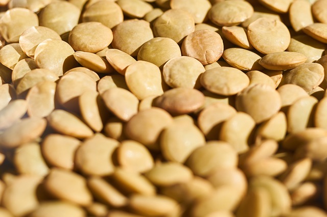
{"type": "Polygon", "coordinates": [[[236,150],[226,142],[212,142],[195,149],[185,162],[195,175],[207,177],[218,169],[238,165],[236,150]]]}

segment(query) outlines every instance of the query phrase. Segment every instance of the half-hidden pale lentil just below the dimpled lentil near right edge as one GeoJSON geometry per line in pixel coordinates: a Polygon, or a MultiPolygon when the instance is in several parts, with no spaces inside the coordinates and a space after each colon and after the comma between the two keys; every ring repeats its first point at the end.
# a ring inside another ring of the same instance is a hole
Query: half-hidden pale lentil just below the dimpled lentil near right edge
{"type": "Polygon", "coordinates": [[[282,107],[292,105],[296,100],[309,96],[309,94],[300,86],[286,84],[277,89],[282,99],[282,107]]]}

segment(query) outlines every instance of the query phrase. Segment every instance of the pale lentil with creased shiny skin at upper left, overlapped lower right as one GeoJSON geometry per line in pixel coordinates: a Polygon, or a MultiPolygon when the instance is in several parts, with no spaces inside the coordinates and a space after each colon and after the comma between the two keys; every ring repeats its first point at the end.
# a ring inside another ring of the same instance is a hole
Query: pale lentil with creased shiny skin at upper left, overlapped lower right
{"type": "Polygon", "coordinates": [[[37,45],[45,39],[59,39],[58,33],[45,26],[33,26],[25,30],[19,37],[19,45],[30,58],[34,58],[37,45]]]}

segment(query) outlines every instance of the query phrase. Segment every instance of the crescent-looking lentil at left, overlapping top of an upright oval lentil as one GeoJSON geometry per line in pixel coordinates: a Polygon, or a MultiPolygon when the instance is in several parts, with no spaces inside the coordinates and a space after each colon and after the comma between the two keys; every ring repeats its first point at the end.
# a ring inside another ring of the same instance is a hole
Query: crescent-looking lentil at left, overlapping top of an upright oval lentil
{"type": "Polygon", "coordinates": [[[17,95],[26,96],[28,91],[40,82],[55,82],[59,77],[49,69],[33,69],[21,78],[17,85],[17,95]]]}

